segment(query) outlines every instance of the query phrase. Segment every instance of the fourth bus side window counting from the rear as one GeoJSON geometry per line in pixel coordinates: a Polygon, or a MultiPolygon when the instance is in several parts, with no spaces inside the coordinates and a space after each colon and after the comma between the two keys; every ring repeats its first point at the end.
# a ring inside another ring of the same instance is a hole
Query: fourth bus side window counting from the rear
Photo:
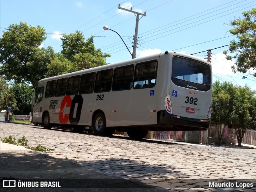
{"type": "Polygon", "coordinates": [[[92,93],[94,89],[95,73],[84,74],[81,77],[79,94],[92,93]]]}

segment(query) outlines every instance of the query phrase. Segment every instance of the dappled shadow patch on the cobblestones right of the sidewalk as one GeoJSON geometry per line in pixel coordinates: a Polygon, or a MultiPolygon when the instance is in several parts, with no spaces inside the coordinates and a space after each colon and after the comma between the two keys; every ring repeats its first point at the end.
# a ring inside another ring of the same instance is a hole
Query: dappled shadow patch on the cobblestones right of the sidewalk
{"type": "MultiPolygon", "coordinates": [[[[139,157],[138,157],[139,159],[139,157]]],[[[178,168],[166,164],[147,164],[146,162],[128,158],[110,158],[95,161],[79,161],[86,168],[92,168],[103,174],[138,180],[154,179],[156,181],[189,178],[178,168]]]]}

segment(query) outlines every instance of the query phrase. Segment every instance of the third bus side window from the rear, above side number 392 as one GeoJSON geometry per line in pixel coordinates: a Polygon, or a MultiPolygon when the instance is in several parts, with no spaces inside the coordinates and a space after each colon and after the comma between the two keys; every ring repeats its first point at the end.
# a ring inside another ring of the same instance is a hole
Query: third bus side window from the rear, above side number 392
{"type": "Polygon", "coordinates": [[[98,71],[98,73],[96,74],[94,92],[100,93],[110,91],[112,85],[112,77],[113,69],[98,71]]]}

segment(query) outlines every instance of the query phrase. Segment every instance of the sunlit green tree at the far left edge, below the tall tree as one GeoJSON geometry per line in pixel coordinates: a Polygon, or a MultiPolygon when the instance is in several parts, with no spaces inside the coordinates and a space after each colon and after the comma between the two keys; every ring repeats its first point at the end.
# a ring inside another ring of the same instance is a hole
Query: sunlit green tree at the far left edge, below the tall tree
{"type": "Polygon", "coordinates": [[[6,110],[11,107],[12,111],[18,109],[14,93],[10,92],[7,81],[0,77],[0,109],[6,110]]]}

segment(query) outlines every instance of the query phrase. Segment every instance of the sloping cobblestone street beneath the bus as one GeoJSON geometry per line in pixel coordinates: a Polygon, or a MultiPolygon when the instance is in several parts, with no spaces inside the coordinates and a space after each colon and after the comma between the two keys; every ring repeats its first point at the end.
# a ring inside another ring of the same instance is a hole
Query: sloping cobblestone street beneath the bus
{"type": "MultiPolygon", "coordinates": [[[[255,149],[133,141],[120,136],[100,137],[32,125],[0,124],[1,138],[12,135],[19,139],[24,135],[30,146],[41,144],[54,149],[50,156],[73,159],[104,174],[140,179],[170,191],[191,191],[191,188],[218,191],[217,187],[209,188],[210,181],[256,179],[255,149]]],[[[241,191],[254,190],[255,185],[241,191]]]]}

